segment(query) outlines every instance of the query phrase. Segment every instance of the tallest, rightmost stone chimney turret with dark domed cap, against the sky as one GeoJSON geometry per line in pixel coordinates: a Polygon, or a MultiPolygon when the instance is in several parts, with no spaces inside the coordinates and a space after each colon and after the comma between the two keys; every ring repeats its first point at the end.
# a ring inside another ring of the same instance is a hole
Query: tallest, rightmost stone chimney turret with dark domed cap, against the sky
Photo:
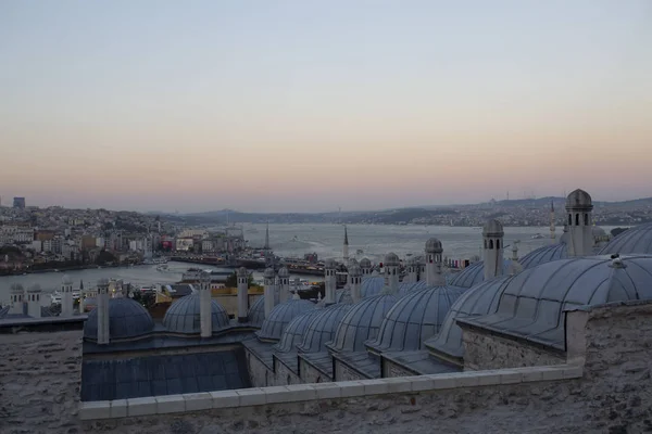
{"type": "Polygon", "coordinates": [[[587,256],[592,253],[592,210],[593,202],[586,191],[578,189],[566,197],[566,219],[569,232],[568,256],[587,256]]]}

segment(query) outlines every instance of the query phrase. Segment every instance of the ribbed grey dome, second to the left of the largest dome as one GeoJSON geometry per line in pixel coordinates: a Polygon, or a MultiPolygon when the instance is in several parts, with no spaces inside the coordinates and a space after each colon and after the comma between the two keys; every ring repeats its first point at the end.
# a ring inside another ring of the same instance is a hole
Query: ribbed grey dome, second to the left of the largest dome
{"type": "Polygon", "coordinates": [[[462,293],[457,288],[432,286],[404,296],[387,312],[378,336],[367,346],[377,352],[421,349],[425,340],[439,332],[462,293]]]}

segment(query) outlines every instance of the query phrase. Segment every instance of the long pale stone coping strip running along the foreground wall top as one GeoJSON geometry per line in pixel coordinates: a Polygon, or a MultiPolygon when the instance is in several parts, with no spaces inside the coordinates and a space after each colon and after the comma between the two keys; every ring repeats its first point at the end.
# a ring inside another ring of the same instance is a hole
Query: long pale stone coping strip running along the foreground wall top
{"type": "Polygon", "coordinates": [[[252,387],[185,395],[168,395],[102,401],[79,406],[82,420],[112,419],[167,412],[199,411],[212,408],[253,407],[268,404],[337,399],[397,393],[428,393],[439,390],[494,386],[578,379],[580,365],[552,365],[429,375],[400,376],[333,383],[252,387]]]}

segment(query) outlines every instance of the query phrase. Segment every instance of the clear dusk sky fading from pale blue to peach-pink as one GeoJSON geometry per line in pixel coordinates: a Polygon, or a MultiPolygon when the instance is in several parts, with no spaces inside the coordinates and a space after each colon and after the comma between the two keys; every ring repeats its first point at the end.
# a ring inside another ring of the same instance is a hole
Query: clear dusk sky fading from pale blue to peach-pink
{"type": "Polygon", "coordinates": [[[652,2],[0,0],[7,204],[652,196],[652,2]]]}

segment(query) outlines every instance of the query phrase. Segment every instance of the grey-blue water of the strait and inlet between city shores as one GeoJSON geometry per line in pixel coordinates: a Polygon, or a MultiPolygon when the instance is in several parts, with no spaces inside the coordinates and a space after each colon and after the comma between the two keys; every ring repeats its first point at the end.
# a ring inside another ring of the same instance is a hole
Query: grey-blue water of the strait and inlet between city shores
{"type": "MultiPolygon", "coordinates": [[[[250,246],[263,246],[265,240],[265,225],[243,225],[244,238],[250,246]]],[[[612,228],[604,227],[609,233],[612,228]]],[[[374,261],[381,260],[388,252],[394,252],[399,257],[405,258],[408,254],[421,254],[424,244],[430,237],[437,237],[443,244],[443,254],[450,258],[469,258],[480,255],[481,229],[441,226],[386,226],[386,225],[349,225],[349,255],[358,259],[368,257],[374,261]],[[362,250],[362,254],[356,254],[362,250]]],[[[303,257],[305,253],[316,253],[319,258],[342,257],[343,227],[340,225],[269,225],[269,244],[274,253],[286,257],[303,257]]],[[[556,229],[557,238],[562,228],[556,229]]],[[[505,257],[511,256],[511,247],[515,240],[521,240],[518,255],[550,243],[548,228],[505,228],[504,244],[505,257]],[[536,233],[544,235],[543,239],[532,239],[536,233]]],[[[122,268],[101,268],[68,271],[67,275],[75,282],[74,288],[84,282],[86,288],[95,285],[99,279],[123,279],[134,284],[174,283],[181,279],[181,273],[192,267],[191,264],[168,263],[167,271],[159,271],[153,265],[142,265],[122,268]]],[[[211,269],[210,266],[202,268],[211,269]]],[[[214,267],[213,267],[214,268],[214,267]]],[[[214,268],[217,269],[217,268],[214,268]]],[[[13,283],[21,283],[24,288],[38,284],[46,292],[59,289],[63,272],[43,272],[25,276],[0,277],[0,302],[8,303],[10,288],[13,283]]],[[[260,272],[254,278],[261,278],[260,272]]],[[[293,278],[293,276],[292,276],[293,278]]],[[[306,278],[302,276],[302,278],[306,278]]],[[[309,277],[310,280],[319,280],[309,277]]],[[[49,297],[43,297],[43,304],[49,297]]]]}

